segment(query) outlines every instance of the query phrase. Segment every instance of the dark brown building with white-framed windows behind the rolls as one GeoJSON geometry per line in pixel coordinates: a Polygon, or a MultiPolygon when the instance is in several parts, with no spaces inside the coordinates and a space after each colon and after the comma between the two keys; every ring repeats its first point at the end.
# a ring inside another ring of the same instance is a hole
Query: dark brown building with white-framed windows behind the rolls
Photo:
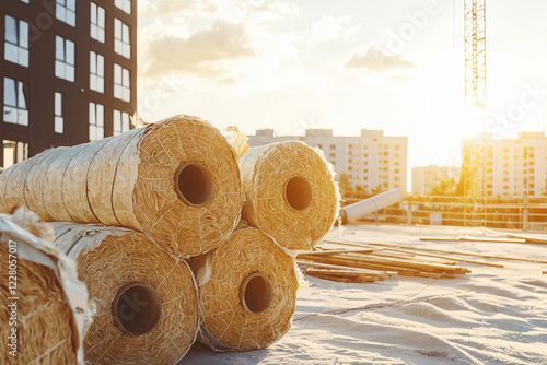
{"type": "Polygon", "coordinates": [[[137,0],[1,0],[0,166],[127,131],[137,0]]]}

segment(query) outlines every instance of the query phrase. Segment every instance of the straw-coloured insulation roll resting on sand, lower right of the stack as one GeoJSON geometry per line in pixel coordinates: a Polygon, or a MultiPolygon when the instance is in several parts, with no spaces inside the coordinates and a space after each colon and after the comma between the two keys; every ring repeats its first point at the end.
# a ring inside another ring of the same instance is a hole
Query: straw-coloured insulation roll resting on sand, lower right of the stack
{"type": "Polygon", "coordinates": [[[299,286],[293,258],[254,227],[236,229],[190,260],[199,292],[199,340],[213,350],[255,350],[291,327],[299,286]]]}

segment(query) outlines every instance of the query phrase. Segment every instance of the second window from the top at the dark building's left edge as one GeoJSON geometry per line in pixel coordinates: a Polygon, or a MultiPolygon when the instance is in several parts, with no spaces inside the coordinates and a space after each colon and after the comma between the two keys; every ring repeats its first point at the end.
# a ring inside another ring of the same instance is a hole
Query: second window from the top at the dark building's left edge
{"type": "Polygon", "coordinates": [[[27,95],[26,83],[3,78],[3,121],[28,126],[27,95]]]}

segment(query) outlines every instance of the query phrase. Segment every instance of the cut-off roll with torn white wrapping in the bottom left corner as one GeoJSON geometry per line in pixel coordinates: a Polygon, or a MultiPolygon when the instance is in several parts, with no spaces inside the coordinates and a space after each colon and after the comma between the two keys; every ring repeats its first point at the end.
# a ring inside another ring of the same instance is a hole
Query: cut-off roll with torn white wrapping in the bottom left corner
{"type": "Polygon", "coordinates": [[[0,216],[0,363],[83,364],[88,291],[74,261],[31,234],[51,235],[34,217],[0,216]]]}

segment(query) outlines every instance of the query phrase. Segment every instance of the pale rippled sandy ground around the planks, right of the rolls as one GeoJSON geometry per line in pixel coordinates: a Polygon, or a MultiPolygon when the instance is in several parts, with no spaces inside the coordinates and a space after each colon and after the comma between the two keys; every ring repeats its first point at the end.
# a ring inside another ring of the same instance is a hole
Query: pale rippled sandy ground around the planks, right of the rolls
{"type": "MultiPolygon", "coordinates": [[[[418,240],[456,235],[497,236],[481,228],[364,225],[335,228],[327,238],[547,260],[542,245],[418,240]]],[[[293,326],[278,343],[246,353],[195,344],[179,364],[547,364],[547,264],[476,260],[504,268],[458,263],[472,273],[369,284],[305,276],[293,326]]]]}

